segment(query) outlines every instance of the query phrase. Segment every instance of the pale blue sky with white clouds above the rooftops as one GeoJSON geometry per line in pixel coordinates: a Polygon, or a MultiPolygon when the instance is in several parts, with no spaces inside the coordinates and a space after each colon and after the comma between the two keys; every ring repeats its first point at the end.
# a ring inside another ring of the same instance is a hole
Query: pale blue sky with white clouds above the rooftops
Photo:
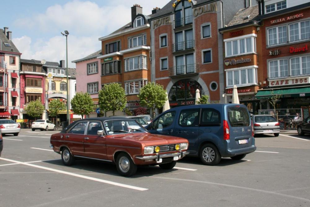
{"type": "Polygon", "coordinates": [[[66,60],[68,67],[101,49],[104,37],[131,21],[131,7],[139,4],[143,14],[162,8],[169,0],[11,0],[1,2],[0,28],[8,27],[22,59],[50,62],[66,60]],[[7,8],[7,9],[5,9],[7,8]]]}

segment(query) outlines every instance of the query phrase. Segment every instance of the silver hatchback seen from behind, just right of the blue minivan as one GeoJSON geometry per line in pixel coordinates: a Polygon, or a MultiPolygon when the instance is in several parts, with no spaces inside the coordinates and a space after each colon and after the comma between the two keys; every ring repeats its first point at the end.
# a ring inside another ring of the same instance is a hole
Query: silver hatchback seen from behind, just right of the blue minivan
{"type": "Polygon", "coordinates": [[[254,135],[274,134],[279,136],[280,123],[272,115],[253,115],[254,135]]]}

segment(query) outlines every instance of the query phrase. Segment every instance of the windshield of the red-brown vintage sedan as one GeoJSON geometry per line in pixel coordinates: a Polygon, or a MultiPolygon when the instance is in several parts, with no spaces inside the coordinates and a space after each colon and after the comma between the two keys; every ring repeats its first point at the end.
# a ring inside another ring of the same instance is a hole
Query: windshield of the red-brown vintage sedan
{"type": "Polygon", "coordinates": [[[104,127],[108,135],[147,132],[147,130],[136,121],[128,119],[105,121],[104,127]]]}

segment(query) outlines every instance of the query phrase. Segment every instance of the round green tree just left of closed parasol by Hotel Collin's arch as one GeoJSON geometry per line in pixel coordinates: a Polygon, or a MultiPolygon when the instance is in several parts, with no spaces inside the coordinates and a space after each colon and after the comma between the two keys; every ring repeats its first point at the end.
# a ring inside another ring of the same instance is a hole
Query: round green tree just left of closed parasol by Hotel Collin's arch
{"type": "Polygon", "coordinates": [[[151,108],[155,111],[155,108],[161,108],[167,100],[166,90],[164,87],[153,82],[149,82],[145,85],[138,95],[140,99],[140,105],[151,108]]]}

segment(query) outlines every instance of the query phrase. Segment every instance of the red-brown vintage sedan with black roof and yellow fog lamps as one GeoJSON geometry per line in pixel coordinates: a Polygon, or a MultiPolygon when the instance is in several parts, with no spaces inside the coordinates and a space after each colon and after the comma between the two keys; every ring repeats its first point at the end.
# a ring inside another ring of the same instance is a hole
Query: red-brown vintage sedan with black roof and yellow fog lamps
{"type": "Polygon", "coordinates": [[[187,152],[188,140],[154,135],[132,119],[87,118],[73,122],[51,136],[50,147],[61,154],[65,165],[88,158],[116,164],[119,174],[135,174],[137,165],[172,169],[187,152]]]}

